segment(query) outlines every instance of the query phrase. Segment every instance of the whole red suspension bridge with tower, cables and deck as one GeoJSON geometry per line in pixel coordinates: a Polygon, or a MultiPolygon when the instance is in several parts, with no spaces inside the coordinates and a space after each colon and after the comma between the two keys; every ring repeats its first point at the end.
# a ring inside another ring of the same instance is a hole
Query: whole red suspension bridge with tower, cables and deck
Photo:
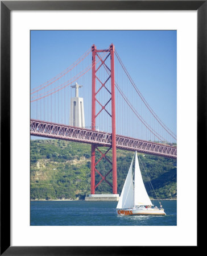
{"type": "Polygon", "coordinates": [[[93,45],[65,71],[31,89],[30,133],[91,144],[92,194],[102,181],[117,194],[117,148],[177,157],[177,148],[173,146],[176,135],[142,96],[113,44],[108,49],[93,45]],[[83,85],[85,127],[68,125],[70,85],[75,82],[83,85]],[[107,155],[109,151],[111,158],[107,155]],[[103,159],[111,164],[106,174],[98,170],[98,163],[103,159]],[[97,181],[96,174],[100,177],[97,181]],[[110,174],[112,184],[107,180],[110,174]]]}

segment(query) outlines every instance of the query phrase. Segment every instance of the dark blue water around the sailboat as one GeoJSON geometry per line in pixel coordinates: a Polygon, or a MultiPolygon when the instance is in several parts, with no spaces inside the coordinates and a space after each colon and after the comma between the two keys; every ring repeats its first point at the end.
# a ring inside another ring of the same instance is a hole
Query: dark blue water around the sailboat
{"type": "Polygon", "coordinates": [[[118,216],[117,202],[31,201],[31,226],[176,226],[177,201],[163,200],[166,216],[118,216]]]}

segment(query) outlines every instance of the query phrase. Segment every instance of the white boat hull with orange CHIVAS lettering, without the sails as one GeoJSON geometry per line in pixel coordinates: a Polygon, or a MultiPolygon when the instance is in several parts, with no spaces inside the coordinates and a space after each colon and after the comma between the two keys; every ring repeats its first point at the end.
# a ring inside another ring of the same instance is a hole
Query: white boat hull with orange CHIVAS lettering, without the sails
{"type": "Polygon", "coordinates": [[[118,215],[166,215],[164,210],[160,209],[117,209],[118,215]]]}

